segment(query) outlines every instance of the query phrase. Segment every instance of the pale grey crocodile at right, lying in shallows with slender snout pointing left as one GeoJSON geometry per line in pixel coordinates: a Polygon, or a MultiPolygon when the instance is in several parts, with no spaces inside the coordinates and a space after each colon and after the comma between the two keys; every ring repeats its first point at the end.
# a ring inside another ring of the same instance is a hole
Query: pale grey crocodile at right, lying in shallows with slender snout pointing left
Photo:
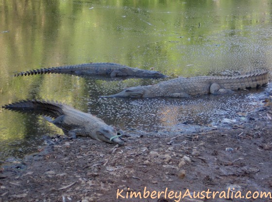
{"type": "Polygon", "coordinates": [[[129,98],[173,97],[184,98],[204,94],[220,95],[232,90],[256,88],[268,84],[268,69],[254,70],[239,76],[200,76],[177,78],[154,85],[129,87],[110,96],[129,98]]]}

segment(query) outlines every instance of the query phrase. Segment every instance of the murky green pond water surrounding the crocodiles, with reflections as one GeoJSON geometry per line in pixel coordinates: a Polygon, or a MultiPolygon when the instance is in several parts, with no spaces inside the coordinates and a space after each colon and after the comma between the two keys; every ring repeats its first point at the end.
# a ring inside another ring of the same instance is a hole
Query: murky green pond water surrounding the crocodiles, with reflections
{"type": "MultiPolygon", "coordinates": [[[[0,105],[62,101],[124,130],[171,130],[182,122],[237,118],[255,107],[248,91],[190,99],[99,99],[161,80],[12,75],[88,62],[153,67],[184,77],[271,68],[271,13],[270,0],[3,0],[0,105]]],[[[0,159],[37,151],[42,135],[55,133],[60,130],[39,116],[0,110],[0,159]]]]}

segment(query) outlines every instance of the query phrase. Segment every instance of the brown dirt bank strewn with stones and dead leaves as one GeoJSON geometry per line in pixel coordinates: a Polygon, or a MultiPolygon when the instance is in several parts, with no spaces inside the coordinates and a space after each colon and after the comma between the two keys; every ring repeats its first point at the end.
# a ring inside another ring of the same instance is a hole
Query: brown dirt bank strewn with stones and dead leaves
{"type": "Polygon", "coordinates": [[[0,202],[271,201],[260,198],[272,191],[267,105],[231,127],[130,133],[123,147],[55,135],[43,151],[2,162],[0,202]],[[219,192],[215,199],[213,191],[219,192]],[[235,199],[248,191],[250,199],[235,199]]]}

